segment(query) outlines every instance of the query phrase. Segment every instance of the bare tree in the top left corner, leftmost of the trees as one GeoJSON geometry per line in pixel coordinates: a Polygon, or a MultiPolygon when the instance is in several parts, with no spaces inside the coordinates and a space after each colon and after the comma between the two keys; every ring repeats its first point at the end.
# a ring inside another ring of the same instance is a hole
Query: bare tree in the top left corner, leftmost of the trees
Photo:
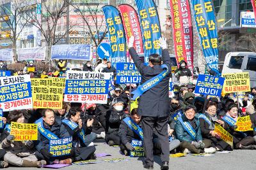
{"type": "Polygon", "coordinates": [[[28,6],[31,6],[28,0],[0,1],[0,19],[7,25],[7,28],[1,31],[12,41],[14,60],[17,60],[17,39],[28,24],[28,20],[23,19],[26,18],[24,11],[28,10],[28,6]]]}

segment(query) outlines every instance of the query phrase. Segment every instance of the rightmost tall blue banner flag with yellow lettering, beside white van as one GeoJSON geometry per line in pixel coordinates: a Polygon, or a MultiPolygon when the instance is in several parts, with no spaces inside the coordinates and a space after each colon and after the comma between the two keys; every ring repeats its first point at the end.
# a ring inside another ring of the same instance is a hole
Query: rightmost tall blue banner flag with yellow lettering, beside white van
{"type": "Polygon", "coordinates": [[[211,0],[192,0],[195,23],[207,66],[218,71],[218,32],[211,0]]]}

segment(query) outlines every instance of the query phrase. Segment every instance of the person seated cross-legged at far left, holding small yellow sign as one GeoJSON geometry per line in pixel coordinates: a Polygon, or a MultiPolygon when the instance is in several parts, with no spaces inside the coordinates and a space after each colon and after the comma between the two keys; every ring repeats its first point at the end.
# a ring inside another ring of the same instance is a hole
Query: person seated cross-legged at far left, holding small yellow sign
{"type": "Polygon", "coordinates": [[[15,136],[10,134],[11,122],[24,123],[24,116],[21,111],[10,111],[6,127],[2,134],[6,136],[2,141],[2,148],[6,150],[4,160],[13,166],[22,167],[42,167],[46,164],[45,160],[38,161],[35,156],[35,148],[33,141],[13,141],[15,136]]]}

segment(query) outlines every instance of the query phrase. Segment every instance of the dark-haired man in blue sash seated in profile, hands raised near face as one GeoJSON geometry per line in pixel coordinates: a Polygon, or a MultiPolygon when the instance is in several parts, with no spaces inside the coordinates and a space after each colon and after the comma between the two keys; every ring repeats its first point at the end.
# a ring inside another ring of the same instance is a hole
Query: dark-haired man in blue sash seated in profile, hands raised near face
{"type": "Polygon", "coordinates": [[[86,125],[81,120],[81,110],[72,108],[68,113],[68,119],[62,120],[60,126],[60,138],[72,136],[72,162],[86,159],[95,159],[95,146],[88,146],[86,132],[92,131],[92,121],[88,120],[86,125]]]}

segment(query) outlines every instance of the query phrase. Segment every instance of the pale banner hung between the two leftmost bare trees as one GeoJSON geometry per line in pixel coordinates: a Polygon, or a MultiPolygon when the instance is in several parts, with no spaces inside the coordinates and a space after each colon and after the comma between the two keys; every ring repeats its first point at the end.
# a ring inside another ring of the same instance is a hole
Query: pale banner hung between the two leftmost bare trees
{"type": "Polygon", "coordinates": [[[46,47],[18,48],[18,60],[45,60],[46,47]]]}

